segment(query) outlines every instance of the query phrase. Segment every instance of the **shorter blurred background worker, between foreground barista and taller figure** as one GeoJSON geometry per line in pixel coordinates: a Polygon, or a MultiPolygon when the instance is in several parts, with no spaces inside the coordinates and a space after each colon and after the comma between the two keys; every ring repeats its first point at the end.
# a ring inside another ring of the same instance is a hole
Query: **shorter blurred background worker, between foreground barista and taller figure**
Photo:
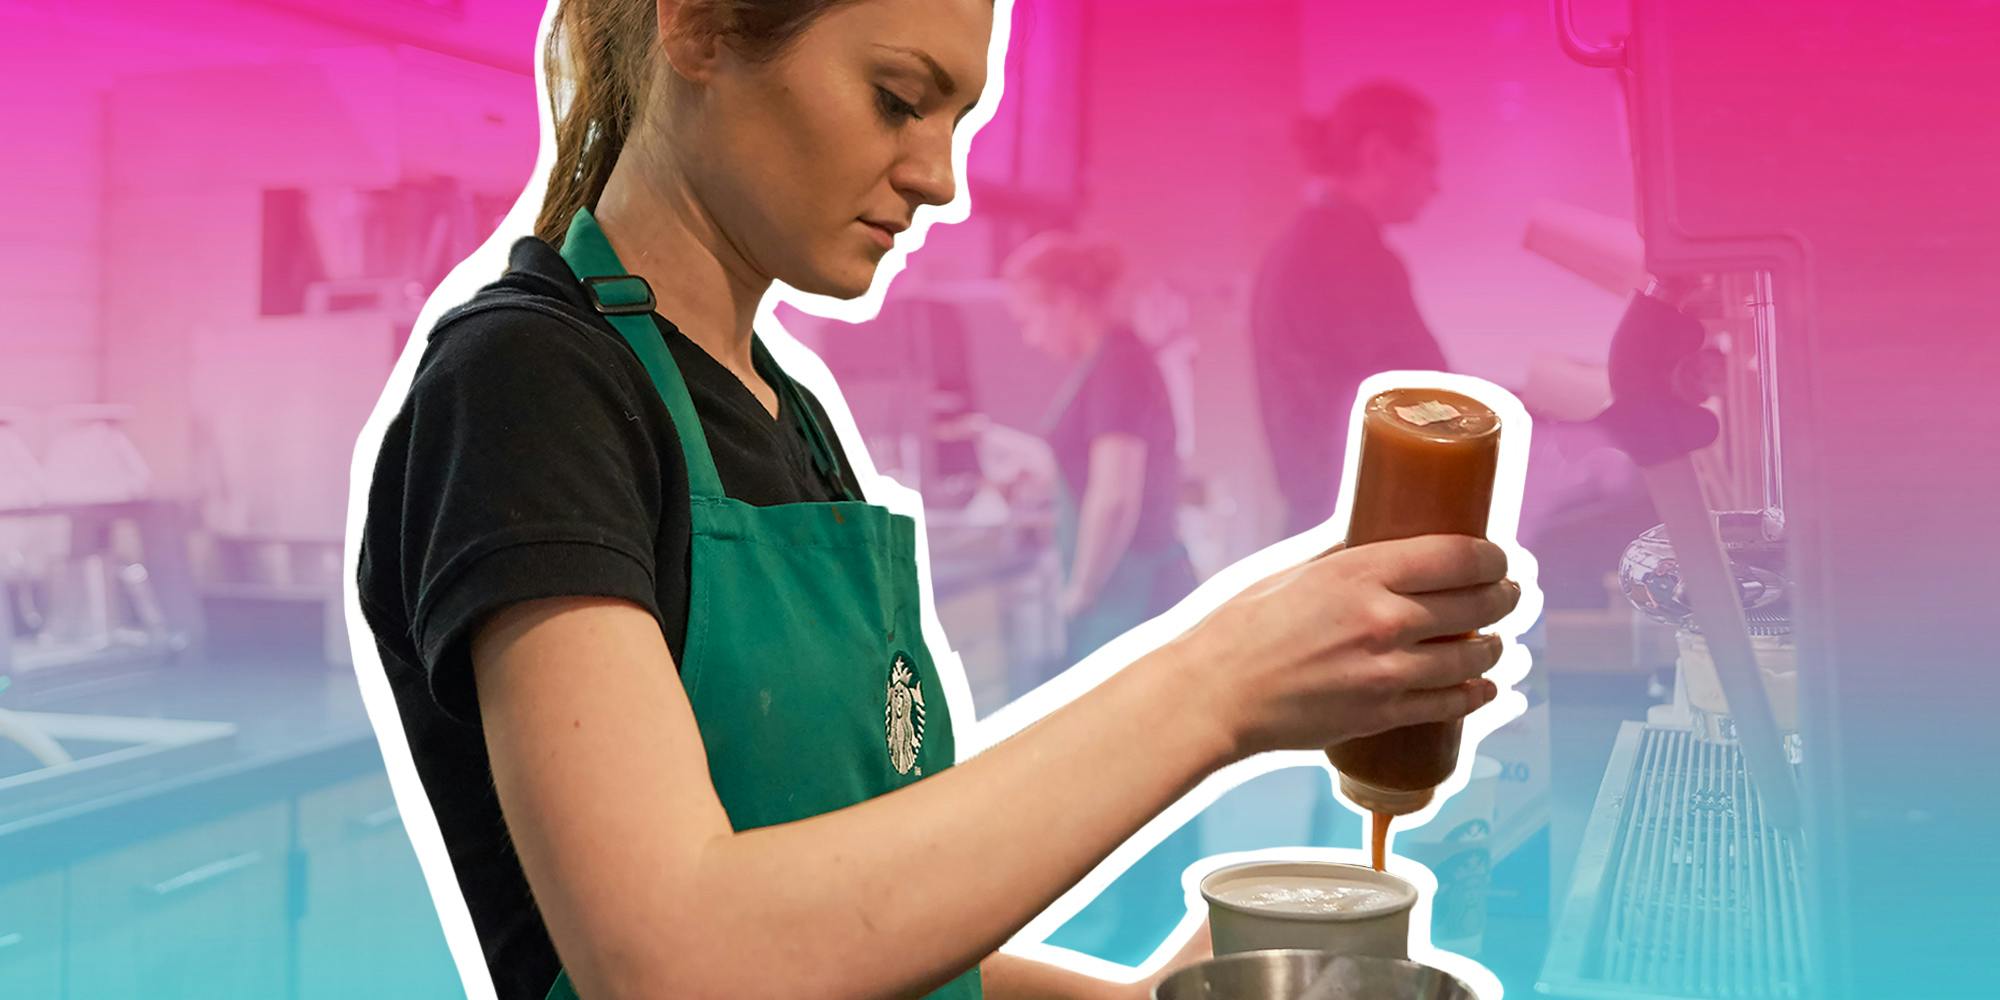
{"type": "Polygon", "coordinates": [[[1054,452],[1070,662],[1194,590],[1176,528],[1174,410],[1152,352],[1112,316],[1114,246],[1044,232],[1008,256],[1010,304],[1034,348],[1072,366],[1042,424],[1054,452]]]}

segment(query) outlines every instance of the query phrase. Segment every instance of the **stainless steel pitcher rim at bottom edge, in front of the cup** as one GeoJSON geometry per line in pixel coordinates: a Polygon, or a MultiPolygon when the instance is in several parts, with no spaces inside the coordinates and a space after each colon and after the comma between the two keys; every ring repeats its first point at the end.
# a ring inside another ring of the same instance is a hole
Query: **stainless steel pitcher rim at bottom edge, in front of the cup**
{"type": "Polygon", "coordinates": [[[1476,1000],[1458,978],[1416,962],[1268,950],[1210,958],[1168,976],[1154,1000],[1476,1000]]]}

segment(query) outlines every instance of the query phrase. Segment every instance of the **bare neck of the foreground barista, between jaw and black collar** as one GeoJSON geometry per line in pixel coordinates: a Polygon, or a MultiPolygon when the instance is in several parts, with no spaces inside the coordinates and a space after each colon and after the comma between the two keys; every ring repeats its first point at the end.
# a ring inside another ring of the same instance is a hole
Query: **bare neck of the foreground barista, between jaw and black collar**
{"type": "Polygon", "coordinates": [[[652,286],[660,316],[758,386],[750,330],[770,278],[722,238],[670,160],[626,146],[592,214],[626,270],[652,286]]]}

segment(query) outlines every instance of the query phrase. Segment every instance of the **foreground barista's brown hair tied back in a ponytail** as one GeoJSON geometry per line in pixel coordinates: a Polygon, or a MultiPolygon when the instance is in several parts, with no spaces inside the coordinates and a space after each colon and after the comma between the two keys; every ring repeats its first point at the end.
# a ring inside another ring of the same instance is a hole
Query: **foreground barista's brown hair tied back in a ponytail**
{"type": "MultiPolygon", "coordinates": [[[[822,14],[854,0],[682,0],[672,30],[726,42],[750,62],[768,62],[822,14]]],[[[654,0],[560,0],[542,52],[548,110],[556,122],[556,166],[542,192],[534,234],[554,246],[578,208],[594,208],[618,164],[658,52],[654,0]]]]}

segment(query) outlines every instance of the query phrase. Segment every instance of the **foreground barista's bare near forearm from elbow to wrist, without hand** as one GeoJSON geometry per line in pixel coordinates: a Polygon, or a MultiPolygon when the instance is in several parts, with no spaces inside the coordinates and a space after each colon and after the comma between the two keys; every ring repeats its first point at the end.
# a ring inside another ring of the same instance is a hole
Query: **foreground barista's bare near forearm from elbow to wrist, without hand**
{"type": "MultiPolygon", "coordinates": [[[[1168,646],[1014,738],[888,796],[718,838],[688,996],[916,996],[988,958],[1232,750],[1168,646]]],[[[664,950],[664,948],[662,948],[664,950]]]]}

